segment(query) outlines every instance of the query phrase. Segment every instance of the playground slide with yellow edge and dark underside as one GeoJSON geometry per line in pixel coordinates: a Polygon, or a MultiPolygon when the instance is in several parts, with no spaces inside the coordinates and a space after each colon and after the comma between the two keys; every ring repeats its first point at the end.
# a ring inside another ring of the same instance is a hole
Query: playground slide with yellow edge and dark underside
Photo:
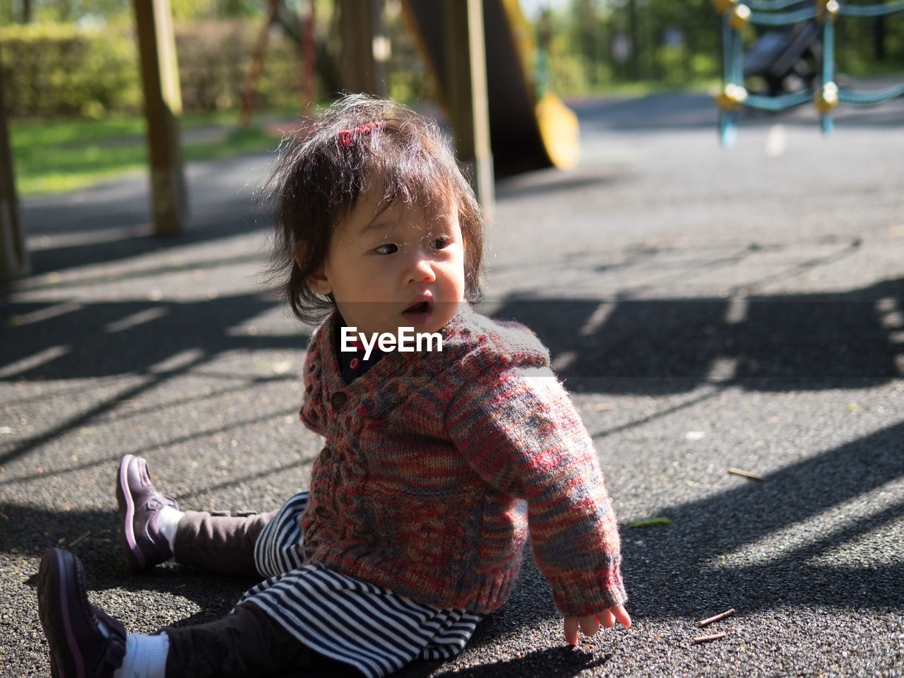
{"type": "MultiPolygon", "coordinates": [[[[405,12],[441,96],[446,91],[446,45],[443,4],[405,0],[405,12]]],[[[536,46],[531,25],[518,0],[484,0],[486,79],[490,138],[497,175],[578,162],[578,118],[559,97],[537,100],[534,81],[536,46]]]]}

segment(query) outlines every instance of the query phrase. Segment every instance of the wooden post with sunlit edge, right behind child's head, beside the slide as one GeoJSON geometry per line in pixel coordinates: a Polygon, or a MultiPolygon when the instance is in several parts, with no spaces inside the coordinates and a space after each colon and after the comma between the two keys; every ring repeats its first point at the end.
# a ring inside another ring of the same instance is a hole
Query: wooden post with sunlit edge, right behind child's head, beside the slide
{"type": "Polygon", "coordinates": [[[483,0],[443,0],[447,97],[458,159],[471,171],[487,217],[495,211],[490,107],[486,92],[483,0]]]}

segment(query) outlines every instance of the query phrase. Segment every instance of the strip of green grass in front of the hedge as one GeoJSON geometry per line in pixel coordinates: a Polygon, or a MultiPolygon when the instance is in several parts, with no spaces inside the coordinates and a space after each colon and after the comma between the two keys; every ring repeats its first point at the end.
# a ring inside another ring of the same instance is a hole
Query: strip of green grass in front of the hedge
{"type": "MultiPolygon", "coordinates": [[[[186,132],[211,124],[221,126],[221,138],[184,143],[186,161],[259,153],[278,144],[265,127],[235,127],[234,114],[184,118],[183,137],[190,139],[186,132]]],[[[21,195],[71,191],[146,171],[143,118],[14,120],[10,136],[21,195]]]]}

